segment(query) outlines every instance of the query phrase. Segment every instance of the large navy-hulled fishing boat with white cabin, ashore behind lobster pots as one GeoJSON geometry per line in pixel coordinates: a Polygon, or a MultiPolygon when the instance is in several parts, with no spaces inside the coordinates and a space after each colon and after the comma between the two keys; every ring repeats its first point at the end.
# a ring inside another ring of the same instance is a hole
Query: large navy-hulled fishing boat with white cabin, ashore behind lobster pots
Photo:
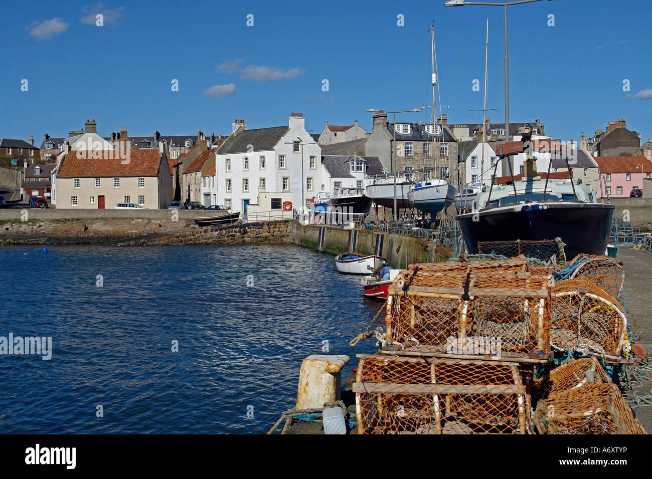
{"type": "MultiPolygon", "coordinates": [[[[499,145],[499,158],[526,152],[529,138],[522,139],[499,145]]],[[[604,254],[614,205],[597,203],[596,193],[581,179],[574,180],[570,167],[568,179],[552,179],[550,165],[552,157],[542,179],[536,159],[527,154],[523,179],[514,181],[512,174],[509,184],[492,184],[477,195],[471,212],[457,216],[469,253],[478,252],[478,242],[561,238],[569,259],[580,253],[604,254]]]]}

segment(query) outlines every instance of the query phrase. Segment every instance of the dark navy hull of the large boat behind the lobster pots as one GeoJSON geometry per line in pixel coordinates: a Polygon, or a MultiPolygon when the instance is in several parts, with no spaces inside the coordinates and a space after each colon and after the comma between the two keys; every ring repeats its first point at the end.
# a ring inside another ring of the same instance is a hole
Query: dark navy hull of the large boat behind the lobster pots
{"type": "Polygon", "coordinates": [[[561,238],[569,261],[580,253],[604,255],[614,205],[555,201],[497,207],[456,217],[467,251],[478,242],[561,238]]]}

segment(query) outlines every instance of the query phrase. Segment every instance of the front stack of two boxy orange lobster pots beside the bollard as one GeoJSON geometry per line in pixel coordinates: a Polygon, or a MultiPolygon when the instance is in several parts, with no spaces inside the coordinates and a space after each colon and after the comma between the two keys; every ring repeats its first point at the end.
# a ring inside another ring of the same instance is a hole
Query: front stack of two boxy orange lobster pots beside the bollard
{"type": "Polygon", "coordinates": [[[531,367],[552,355],[552,284],[548,267],[524,257],[401,272],[389,288],[383,354],[359,356],[359,432],[533,433],[519,360],[531,367]]]}

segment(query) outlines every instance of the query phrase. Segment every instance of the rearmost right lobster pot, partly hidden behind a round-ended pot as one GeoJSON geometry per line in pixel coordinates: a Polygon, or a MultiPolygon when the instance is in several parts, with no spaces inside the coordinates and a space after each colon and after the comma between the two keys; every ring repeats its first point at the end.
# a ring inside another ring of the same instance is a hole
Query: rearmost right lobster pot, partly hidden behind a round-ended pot
{"type": "Polygon", "coordinates": [[[607,295],[623,302],[625,270],[619,261],[610,256],[578,254],[570,265],[576,265],[569,279],[588,278],[607,295]]]}

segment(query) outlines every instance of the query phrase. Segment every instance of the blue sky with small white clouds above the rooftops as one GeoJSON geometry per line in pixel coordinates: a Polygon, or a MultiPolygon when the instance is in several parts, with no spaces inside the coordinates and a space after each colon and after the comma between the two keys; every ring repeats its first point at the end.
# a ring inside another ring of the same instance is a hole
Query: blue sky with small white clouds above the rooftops
{"type": "MultiPolygon", "coordinates": [[[[538,117],[546,134],[577,140],[622,117],[644,140],[652,136],[652,7],[649,0],[625,3],[544,0],[509,8],[511,121],[538,117]]],[[[449,123],[475,123],[482,113],[469,110],[482,108],[482,86],[471,87],[484,76],[486,18],[488,108],[498,108],[488,116],[503,121],[502,14],[499,7],[445,8],[443,0],[5,4],[0,137],[33,135],[40,144],[44,133],[66,136],[87,118],[104,136],[121,126],[132,136],[198,128],[229,134],[233,119],[263,128],[286,124],[293,111],[315,133],[325,120],[357,119],[370,131],[366,108],[431,104],[432,20],[441,102],[450,106],[444,113],[449,123]],[[96,12],[104,14],[102,27],[96,12]],[[28,91],[21,91],[23,79],[28,91]],[[173,79],[179,91],[171,91],[173,79]]]]}

